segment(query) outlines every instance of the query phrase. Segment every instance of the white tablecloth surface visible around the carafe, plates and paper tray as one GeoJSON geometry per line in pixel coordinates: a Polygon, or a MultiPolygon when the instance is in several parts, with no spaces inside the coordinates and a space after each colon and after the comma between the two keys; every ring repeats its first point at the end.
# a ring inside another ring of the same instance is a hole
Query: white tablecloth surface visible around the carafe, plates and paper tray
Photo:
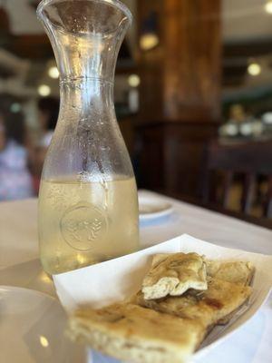
{"type": "MultiPolygon", "coordinates": [[[[272,231],[207,211],[150,191],[145,197],[170,201],[169,217],[141,222],[141,246],[148,247],[188,233],[228,248],[272,255],[272,231]]],[[[35,289],[55,297],[52,281],[38,257],[37,200],[0,203],[0,285],[35,289]]],[[[272,266],[271,266],[272,273],[272,266]]],[[[233,336],[201,359],[202,363],[272,362],[272,296],[233,336]]]]}

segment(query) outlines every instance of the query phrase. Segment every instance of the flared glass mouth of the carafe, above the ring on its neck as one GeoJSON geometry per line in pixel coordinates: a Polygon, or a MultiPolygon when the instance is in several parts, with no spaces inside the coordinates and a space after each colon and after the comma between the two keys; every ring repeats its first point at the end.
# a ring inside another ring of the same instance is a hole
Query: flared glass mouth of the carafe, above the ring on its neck
{"type": "Polygon", "coordinates": [[[61,82],[113,82],[117,55],[131,23],[118,0],[44,0],[38,8],[51,40],[61,82]]]}

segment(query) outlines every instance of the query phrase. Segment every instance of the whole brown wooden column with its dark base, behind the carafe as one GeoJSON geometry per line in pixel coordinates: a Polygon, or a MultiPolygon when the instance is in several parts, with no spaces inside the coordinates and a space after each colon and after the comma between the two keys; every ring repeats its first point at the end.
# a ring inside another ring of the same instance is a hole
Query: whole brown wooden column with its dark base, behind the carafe
{"type": "Polygon", "coordinates": [[[138,4],[140,36],[142,23],[155,12],[160,37],[157,47],[139,52],[142,186],[195,196],[203,151],[220,118],[220,0],[138,4]],[[160,180],[154,178],[158,168],[160,180]]]}

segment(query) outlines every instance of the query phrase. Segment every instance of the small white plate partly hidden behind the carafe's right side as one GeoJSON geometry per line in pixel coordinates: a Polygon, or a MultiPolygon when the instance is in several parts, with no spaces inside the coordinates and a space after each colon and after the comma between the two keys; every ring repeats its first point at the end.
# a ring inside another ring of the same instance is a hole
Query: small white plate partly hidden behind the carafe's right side
{"type": "Polygon", "coordinates": [[[140,220],[152,220],[169,215],[173,211],[172,205],[159,198],[139,195],[140,220]]]}

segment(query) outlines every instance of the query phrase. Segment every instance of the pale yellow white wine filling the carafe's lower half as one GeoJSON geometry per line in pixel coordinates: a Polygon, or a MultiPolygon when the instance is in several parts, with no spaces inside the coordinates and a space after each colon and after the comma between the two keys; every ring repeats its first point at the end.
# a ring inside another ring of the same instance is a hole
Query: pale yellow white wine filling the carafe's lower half
{"type": "Polygon", "coordinates": [[[57,274],[138,249],[134,178],[42,181],[39,240],[44,270],[57,274]]]}

